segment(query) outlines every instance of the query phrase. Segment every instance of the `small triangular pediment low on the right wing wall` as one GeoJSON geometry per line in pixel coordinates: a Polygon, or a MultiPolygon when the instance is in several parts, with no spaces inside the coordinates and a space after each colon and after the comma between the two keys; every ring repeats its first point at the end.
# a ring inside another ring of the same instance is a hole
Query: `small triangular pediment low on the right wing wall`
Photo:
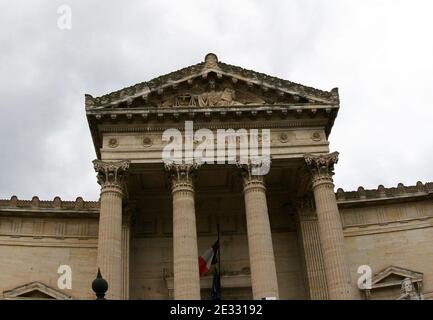
{"type": "Polygon", "coordinates": [[[401,267],[389,266],[373,276],[372,288],[400,286],[406,278],[411,279],[412,283],[422,282],[423,274],[401,267]]]}

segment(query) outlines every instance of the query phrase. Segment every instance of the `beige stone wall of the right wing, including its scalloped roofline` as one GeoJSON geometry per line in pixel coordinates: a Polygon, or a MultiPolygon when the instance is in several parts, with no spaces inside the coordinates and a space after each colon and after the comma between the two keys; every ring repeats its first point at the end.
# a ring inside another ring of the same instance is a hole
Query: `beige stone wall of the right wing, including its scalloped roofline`
{"type": "MultiPolygon", "coordinates": [[[[352,279],[360,265],[373,274],[389,266],[423,273],[425,298],[433,296],[433,184],[337,192],[352,279]]],[[[359,297],[364,295],[358,290],[359,297]]],[[[395,299],[394,292],[380,298],[395,299]]]]}

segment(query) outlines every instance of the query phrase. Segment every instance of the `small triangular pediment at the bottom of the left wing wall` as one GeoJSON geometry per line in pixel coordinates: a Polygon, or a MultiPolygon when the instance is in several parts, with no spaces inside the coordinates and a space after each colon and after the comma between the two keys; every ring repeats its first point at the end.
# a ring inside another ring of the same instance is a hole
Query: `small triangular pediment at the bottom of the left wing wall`
{"type": "Polygon", "coordinates": [[[63,292],[47,286],[46,284],[34,281],[20,285],[11,290],[3,292],[3,297],[9,300],[70,300],[71,296],[64,294],[63,292]]]}

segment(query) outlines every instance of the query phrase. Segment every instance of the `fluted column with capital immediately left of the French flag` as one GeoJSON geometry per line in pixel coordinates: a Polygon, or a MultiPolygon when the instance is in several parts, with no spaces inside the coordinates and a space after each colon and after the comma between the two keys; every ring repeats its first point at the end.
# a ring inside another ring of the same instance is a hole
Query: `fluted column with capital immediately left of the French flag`
{"type": "Polygon", "coordinates": [[[193,172],[197,164],[165,164],[173,195],[173,273],[176,300],[200,300],[193,172]]]}

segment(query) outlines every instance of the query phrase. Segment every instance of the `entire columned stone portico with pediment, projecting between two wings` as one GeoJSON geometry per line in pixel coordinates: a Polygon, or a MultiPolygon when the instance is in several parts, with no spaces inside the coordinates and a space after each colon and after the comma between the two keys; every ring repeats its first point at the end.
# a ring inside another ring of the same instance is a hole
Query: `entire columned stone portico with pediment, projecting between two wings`
{"type": "Polygon", "coordinates": [[[265,77],[221,63],[214,54],[109,95],[87,95],[101,184],[98,267],[110,283],[109,297],[163,298],[168,291],[175,299],[206,298],[198,255],[215,238],[217,223],[227,295],[313,297],[299,280],[317,286],[303,267],[313,259],[303,249],[313,236],[301,219],[309,202],[318,218],[315,250],[323,255],[315,263],[326,278],[319,285],[330,298],[351,298],[331,178],[336,155],[328,149],[338,108],[336,90],[265,77]],[[174,132],[186,136],[185,121],[201,133],[233,135],[211,145],[193,136],[181,142],[182,153],[207,146],[216,156],[222,147],[235,158],[165,162],[163,151],[176,141],[174,132]],[[255,173],[251,159],[240,163],[242,156],[256,154],[251,143],[259,155],[269,144],[268,172],[255,173]]]}

